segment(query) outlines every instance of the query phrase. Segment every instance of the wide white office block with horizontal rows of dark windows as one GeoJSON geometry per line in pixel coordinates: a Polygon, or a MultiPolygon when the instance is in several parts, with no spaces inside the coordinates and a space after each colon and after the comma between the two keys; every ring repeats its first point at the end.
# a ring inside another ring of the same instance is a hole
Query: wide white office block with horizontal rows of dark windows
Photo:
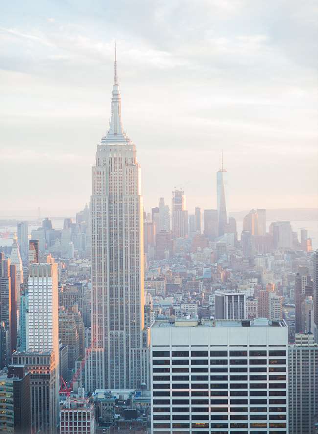
{"type": "Polygon", "coordinates": [[[156,320],[151,328],[151,429],[288,431],[284,321],[156,320]]]}

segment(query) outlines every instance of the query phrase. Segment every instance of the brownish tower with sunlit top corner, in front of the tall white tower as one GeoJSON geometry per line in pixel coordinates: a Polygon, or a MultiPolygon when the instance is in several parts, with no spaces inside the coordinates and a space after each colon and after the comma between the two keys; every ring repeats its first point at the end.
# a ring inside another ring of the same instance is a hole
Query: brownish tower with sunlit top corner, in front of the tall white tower
{"type": "MultiPolygon", "coordinates": [[[[55,434],[59,419],[58,355],[48,351],[16,351],[12,366],[30,374],[32,433],[55,434]]],[[[23,433],[24,434],[24,433],[23,433]]]]}

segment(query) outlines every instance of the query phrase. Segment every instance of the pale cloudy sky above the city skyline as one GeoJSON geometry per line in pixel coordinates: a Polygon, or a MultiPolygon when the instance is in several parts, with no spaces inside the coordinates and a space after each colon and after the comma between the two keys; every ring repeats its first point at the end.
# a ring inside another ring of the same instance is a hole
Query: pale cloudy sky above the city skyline
{"type": "Polygon", "coordinates": [[[318,206],[317,2],[33,0],[0,6],[0,214],[91,195],[117,43],[145,209],[318,206]]]}

